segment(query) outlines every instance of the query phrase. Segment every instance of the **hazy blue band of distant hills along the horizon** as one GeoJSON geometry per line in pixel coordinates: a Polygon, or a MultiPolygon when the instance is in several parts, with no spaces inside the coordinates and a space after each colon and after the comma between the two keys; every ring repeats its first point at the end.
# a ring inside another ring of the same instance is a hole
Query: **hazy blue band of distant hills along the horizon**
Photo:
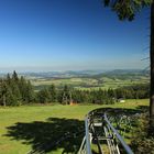
{"type": "MultiPolygon", "coordinates": [[[[4,77],[7,74],[0,74],[4,77]]],[[[114,69],[114,70],[67,70],[67,72],[40,72],[40,73],[20,73],[20,76],[26,78],[73,78],[73,77],[90,77],[90,78],[128,78],[135,76],[150,76],[150,70],[142,69],[114,69]]]]}

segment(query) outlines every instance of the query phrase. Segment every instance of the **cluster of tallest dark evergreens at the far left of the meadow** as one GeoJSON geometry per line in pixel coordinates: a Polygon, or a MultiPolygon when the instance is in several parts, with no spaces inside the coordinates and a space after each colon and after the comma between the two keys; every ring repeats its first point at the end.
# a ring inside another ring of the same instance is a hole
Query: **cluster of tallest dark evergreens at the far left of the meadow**
{"type": "Polygon", "coordinates": [[[30,80],[19,78],[13,72],[12,77],[8,74],[0,80],[0,101],[3,106],[19,106],[30,103],[34,100],[35,94],[30,80]]]}

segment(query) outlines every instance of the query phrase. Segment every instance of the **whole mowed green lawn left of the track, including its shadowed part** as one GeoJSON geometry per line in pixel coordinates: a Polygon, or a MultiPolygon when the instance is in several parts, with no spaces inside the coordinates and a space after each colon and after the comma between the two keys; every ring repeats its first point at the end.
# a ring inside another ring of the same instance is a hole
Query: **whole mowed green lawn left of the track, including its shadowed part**
{"type": "Polygon", "coordinates": [[[148,100],[127,100],[111,106],[0,108],[0,154],[26,154],[32,150],[45,150],[45,153],[51,154],[72,153],[80,145],[84,117],[90,110],[107,107],[139,109],[141,106],[148,106],[148,100]],[[64,140],[62,136],[67,138],[64,140]]]}

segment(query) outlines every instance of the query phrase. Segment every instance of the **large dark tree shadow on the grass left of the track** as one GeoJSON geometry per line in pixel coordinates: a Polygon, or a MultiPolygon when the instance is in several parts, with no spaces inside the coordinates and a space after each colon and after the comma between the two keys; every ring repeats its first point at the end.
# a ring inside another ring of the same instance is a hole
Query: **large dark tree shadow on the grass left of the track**
{"type": "Polygon", "coordinates": [[[62,153],[77,153],[84,138],[84,121],[50,118],[46,122],[18,122],[8,128],[7,136],[31,144],[30,153],[47,153],[63,148],[62,153]]]}

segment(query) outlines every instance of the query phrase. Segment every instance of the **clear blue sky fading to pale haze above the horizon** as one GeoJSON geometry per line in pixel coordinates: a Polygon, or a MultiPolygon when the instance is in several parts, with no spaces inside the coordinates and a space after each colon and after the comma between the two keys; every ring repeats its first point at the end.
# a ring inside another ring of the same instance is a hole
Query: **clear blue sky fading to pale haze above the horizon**
{"type": "Polygon", "coordinates": [[[122,22],[101,0],[0,0],[0,72],[144,69],[148,14],[122,22]]]}

